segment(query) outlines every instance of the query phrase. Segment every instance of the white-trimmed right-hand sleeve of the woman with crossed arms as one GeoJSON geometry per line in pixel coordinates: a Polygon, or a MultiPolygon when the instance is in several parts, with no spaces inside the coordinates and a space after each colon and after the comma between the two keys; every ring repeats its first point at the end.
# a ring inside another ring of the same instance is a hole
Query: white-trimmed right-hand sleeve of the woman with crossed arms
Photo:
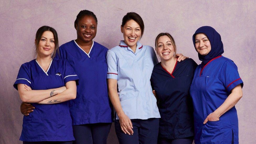
{"type": "Polygon", "coordinates": [[[75,73],[74,69],[71,67],[71,65],[68,63],[67,60],[65,62],[65,71],[64,71],[64,83],[66,84],[69,81],[76,81],[76,84],[78,85],[78,76],[75,73]]]}

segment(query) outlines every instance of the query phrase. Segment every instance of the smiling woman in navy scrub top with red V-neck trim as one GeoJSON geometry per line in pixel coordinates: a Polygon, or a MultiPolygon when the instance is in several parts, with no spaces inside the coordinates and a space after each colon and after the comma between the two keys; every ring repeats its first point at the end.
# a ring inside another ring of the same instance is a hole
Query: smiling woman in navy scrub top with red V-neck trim
{"type": "Polygon", "coordinates": [[[194,140],[194,125],[189,88],[197,64],[191,58],[177,61],[177,48],[169,33],[160,33],[155,46],[161,59],[151,75],[151,85],[157,95],[161,115],[158,143],[191,144],[194,140]]]}

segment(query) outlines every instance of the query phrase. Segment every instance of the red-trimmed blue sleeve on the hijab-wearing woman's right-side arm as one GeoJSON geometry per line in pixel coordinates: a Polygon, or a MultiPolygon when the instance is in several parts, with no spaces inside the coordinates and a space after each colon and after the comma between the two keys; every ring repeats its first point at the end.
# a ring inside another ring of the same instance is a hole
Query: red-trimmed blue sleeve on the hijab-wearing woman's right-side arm
{"type": "Polygon", "coordinates": [[[239,76],[237,66],[231,60],[224,63],[219,75],[219,79],[224,84],[228,92],[230,92],[238,84],[241,84],[243,87],[243,81],[239,76]]]}

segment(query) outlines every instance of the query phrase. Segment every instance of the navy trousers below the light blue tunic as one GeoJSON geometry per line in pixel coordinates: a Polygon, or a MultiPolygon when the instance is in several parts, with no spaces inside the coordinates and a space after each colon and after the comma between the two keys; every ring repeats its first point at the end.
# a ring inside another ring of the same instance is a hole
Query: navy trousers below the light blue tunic
{"type": "Polygon", "coordinates": [[[131,119],[133,135],[124,134],[119,120],[115,120],[115,130],[120,144],[156,144],[159,129],[159,118],[147,120],[131,119]]]}

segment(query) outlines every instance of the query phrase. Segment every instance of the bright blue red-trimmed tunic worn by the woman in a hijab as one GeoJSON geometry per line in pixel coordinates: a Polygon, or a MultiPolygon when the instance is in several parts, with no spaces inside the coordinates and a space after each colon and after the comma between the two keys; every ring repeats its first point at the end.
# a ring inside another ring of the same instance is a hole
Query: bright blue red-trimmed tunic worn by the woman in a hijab
{"type": "Polygon", "coordinates": [[[231,90],[241,84],[237,66],[226,57],[218,56],[204,67],[196,68],[190,94],[194,105],[195,143],[238,143],[238,118],[235,106],[224,113],[219,121],[206,117],[226,100],[231,90]]]}

